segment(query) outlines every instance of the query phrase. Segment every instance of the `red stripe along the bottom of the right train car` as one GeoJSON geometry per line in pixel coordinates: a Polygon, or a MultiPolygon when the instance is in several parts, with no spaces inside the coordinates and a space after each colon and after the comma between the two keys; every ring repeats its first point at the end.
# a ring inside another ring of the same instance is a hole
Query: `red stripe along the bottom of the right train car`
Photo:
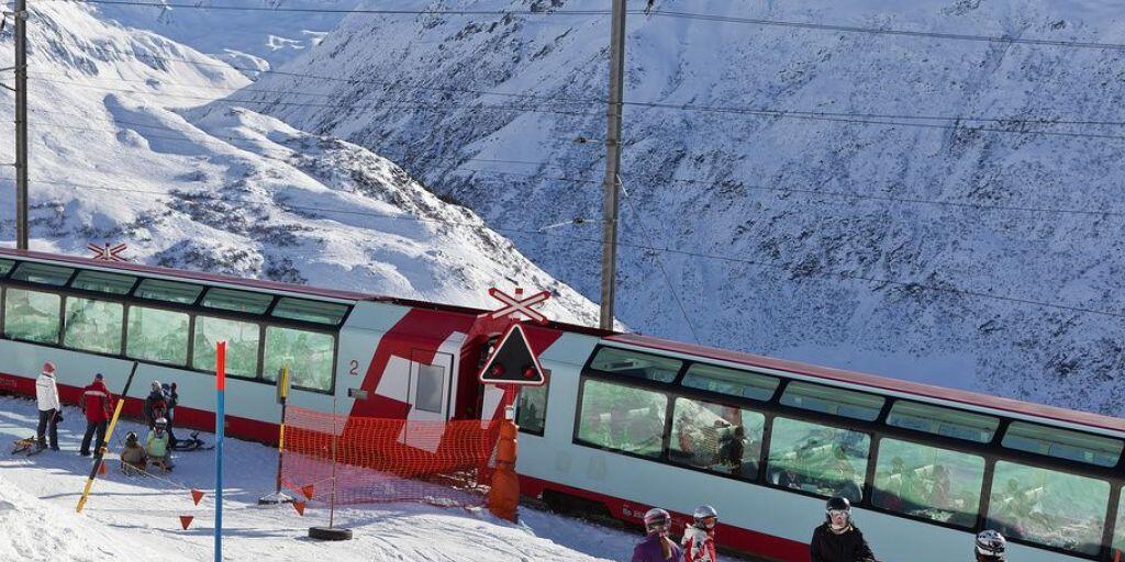
{"type": "MultiPolygon", "coordinates": [[[[596,501],[604,505],[610,510],[610,515],[613,518],[638,525],[641,524],[641,518],[645,516],[645,511],[652,507],[664,507],[638,504],[548,480],[541,480],[523,474],[520,475],[521,495],[539,498],[544,491],[548,490],[573,496],[575,498],[596,501]]],[[[691,518],[687,514],[680,514],[675,511],[672,513],[672,517],[675,522],[673,527],[674,529],[682,529],[691,518]]],[[[791,541],[789,538],[767,535],[765,533],[735,527],[723,523],[719,524],[719,529],[717,531],[716,536],[718,537],[719,545],[723,549],[731,549],[765,558],[767,560],[776,560],[781,562],[809,562],[809,545],[808,543],[802,543],[800,541],[791,541]]],[[[812,527],[809,528],[809,536],[812,536],[812,527]]],[[[639,540],[640,537],[638,536],[638,541],[639,540]]]]}

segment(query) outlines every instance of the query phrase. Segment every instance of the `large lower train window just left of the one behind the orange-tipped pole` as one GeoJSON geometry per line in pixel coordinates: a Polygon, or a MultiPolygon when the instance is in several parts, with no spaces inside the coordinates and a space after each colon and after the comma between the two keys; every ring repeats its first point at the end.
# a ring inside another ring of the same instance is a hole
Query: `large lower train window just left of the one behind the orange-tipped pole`
{"type": "Polygon", "coordinates": [[[125,354],[142,361],[188,364],[188,315],[130,306],[125,354]]]}

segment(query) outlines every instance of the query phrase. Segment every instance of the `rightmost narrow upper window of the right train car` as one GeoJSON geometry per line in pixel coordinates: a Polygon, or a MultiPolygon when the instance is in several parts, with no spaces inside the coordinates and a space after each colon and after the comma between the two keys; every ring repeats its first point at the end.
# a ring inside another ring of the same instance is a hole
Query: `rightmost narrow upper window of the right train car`
{"type": "Polygon", "coordinates": [[[1004,446],[1028,453],[1071,461],[1116,466],[1125,444],[1120,439],[1100,437],[1055,427],[1012,422],[1004,434],[1004,446]]]}

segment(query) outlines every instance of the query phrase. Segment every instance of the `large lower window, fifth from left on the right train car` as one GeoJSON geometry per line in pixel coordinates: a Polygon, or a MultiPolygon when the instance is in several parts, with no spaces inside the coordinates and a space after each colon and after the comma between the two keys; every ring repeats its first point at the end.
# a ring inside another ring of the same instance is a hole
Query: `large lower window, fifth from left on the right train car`
{"type": "Polygon", "coordinates": [[[989,528],[1007,537],[1095,555],[1109,507],[1109,483],[997,461],[989,528]]]}

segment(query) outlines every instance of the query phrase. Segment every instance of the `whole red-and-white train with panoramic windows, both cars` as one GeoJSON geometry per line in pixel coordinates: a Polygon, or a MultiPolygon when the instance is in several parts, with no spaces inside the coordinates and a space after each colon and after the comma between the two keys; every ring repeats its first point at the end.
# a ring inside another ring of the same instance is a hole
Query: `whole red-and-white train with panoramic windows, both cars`
{"type": "MultiPolygon", "coordinates": [[[[363,293],[0,251],[0,391],[34,395],[44,361],[64,400],[94,372],[127,413],[177,382],[177,424],[214,426],[226,341],[227,432],[271,442],[276,377],[322,411],[399,419],[501,414],[477,371],[503,323],[363,293]]],[[[884,560],[968,560],[997,528],[1014,560],[1114,560],[1125,547],[1125,422],[862,373],[564,324],[530,326],[548,372],[518,400],[523,493],[637,523],[721,515],[720,544],[808,560],[825,499],[853,500],[884,560]]]]}

